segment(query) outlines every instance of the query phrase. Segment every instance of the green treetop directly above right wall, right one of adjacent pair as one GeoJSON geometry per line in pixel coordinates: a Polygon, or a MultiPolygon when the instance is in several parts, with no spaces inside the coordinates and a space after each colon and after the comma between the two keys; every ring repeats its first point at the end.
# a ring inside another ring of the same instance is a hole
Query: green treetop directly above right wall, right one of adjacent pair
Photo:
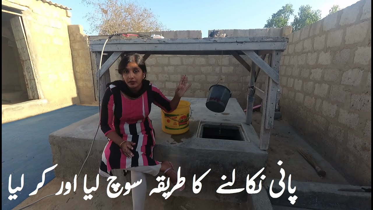
{"type": "Polygon", "coordinates": [[[294,16],[294,21],[291,25],[293,26],[293,31],[298,31],[320,19],[321,10],[312,10],[310,5],[302,5],[299,7],[298,15],[294,16]]]}

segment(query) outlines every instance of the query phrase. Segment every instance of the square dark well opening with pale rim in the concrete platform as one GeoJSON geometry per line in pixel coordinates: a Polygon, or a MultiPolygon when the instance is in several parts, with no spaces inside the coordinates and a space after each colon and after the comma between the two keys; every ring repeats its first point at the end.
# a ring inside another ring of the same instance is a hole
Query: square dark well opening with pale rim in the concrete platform
{"type": "Polygon", "coordinates": [[[241,123],[200,121],[196,137],[250,142],[241,123]]]}

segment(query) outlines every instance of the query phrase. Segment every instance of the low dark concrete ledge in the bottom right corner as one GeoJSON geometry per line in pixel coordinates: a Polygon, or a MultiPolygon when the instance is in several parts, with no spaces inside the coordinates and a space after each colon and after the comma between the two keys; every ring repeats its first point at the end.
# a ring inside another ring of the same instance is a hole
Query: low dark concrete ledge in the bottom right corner
{"type": "MultiPolygon", "coordinates": [[[[272,191],[278,193],[282,190],[279,186],[280,179],[275,179],[272,186],[272,191]]],[[[360,189],[362,186],[339,185],[317,182],[297,182],[291,181],[291,187],[295,189],[294,194],[288,192],[288,179],[284,181],[286,189],[279,198],[270,197],[270,180],[267,180],[264,185],[270,201],[273,205],[297,207],[306,209],[318,210],[370,210],[372,209],[372,193],[371,192],[347,192],[338,191],[342,188],[360,189]],[[289,196],[296,195],[298,198],[294,205],[288,200],[289,196]]],[[[364,187],[364,186],[363,186],[364,187]]],[[[370,188],[370,186],[365,186],[370,188]]]]}

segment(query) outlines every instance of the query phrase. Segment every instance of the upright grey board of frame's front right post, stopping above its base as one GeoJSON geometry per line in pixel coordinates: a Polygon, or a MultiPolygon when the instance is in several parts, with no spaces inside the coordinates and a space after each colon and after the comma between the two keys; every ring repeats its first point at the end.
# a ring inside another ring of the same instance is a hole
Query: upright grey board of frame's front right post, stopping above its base
{"type": "MultiPolygon", "coordinates": [[[[271,67],[276,72],[279,72],[280,70],[280,58],[281,51],[276,50],[272,53],[271,67]]],[[[273,80],[269,80],[268,87],[269,89],[267,92],[266,129],[272,129],[273,120],[275,118],[277,92],[280,88],[280,85],[278,83],[275,83],[273,80]]]]}

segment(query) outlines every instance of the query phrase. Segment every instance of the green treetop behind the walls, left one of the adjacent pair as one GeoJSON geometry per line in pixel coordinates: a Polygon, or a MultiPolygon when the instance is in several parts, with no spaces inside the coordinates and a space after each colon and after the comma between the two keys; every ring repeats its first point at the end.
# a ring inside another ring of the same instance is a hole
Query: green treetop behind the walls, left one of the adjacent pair
{"type": "Polygon", "coordinates": [[[264,28],[282,28],[288,25],[290,15],[293,15],[294,9],[292,4],[286,4],[282,9],[272,14],[272,17],[267,20],[264,28]]]}

